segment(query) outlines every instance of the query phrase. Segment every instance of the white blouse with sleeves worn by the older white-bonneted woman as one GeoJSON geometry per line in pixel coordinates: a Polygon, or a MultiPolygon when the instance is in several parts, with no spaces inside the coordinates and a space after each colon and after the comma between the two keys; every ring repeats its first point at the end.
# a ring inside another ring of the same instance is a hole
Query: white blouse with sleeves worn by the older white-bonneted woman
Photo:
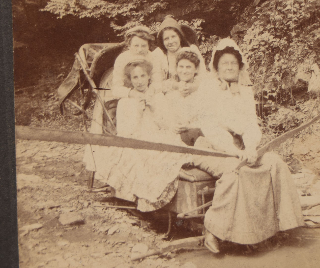
{"type": "Polygon", "coordinates": [[[207,79],[201,83],[195,102],[198,125],[217,150],[232,146],[228,131],[241,135],[246,148],[259,145],[262,134],[250,86],[207,79]]]}

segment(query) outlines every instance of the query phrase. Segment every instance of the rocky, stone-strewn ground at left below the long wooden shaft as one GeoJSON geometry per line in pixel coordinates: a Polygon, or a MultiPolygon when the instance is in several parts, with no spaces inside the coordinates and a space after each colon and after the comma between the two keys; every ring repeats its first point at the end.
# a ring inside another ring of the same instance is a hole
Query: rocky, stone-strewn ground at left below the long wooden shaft
{"type": "Polygon", "coordinates": [[[107,192],[87,189],[83,146],[17,141],[16,147],[20,267],[196,267],[169,252],[131,261],[168,243],[164,231],[106,207],[114,204],[107,192]]]}

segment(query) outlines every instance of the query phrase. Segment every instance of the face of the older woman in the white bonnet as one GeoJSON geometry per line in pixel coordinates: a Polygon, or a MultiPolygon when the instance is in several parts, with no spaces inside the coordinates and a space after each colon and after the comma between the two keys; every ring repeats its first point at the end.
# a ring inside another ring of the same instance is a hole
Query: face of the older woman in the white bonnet
{"type": "Polygon", "coordinates": [[[235,55],[224,53],[218,62],[218,76],[227,82],[237,82],[239,77],[239,62],[235,55]]]}

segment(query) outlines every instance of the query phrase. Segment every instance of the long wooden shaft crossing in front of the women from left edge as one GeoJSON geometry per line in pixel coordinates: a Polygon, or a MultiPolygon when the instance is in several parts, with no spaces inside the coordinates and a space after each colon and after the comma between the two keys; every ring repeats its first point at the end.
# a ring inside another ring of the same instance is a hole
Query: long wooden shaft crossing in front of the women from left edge
{"type": "Polygon", "coordinates": [[[199,150],[191,146],[183,147],[164,143],[146,142],[111,134],[101,135],[81,131],[41,129],[28,126],[16,126],[16,139],[128,147],[133,149],[147,149],[217,157],[236,157],[234,155],[218,151],[199,150]]]}

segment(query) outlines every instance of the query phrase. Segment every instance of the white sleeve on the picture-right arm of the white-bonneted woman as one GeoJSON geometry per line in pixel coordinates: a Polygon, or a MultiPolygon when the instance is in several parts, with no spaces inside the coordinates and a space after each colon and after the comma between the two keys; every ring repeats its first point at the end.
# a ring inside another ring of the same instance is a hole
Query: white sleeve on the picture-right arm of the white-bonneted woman
{"type": "Polygon", "coordinates": [[[258,125],[255,105],[256,102],[254,100],[252,89],[251,87],[245,87],[244,90],[244,103],[246,103],[244,117],[246,118],[246,123],[244,125],[244,134],[242,135],[242,139],[245,148],[255,150],[261,141],[262,134],[258,125]]]}

